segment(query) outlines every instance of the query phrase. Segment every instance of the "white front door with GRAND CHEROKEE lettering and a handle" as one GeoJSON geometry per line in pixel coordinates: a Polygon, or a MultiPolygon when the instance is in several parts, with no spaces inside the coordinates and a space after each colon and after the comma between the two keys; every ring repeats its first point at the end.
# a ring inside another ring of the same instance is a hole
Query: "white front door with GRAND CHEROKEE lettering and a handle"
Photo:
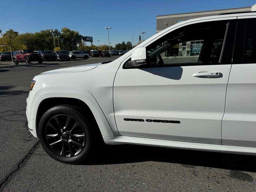
{"type": "Polygon", "coordinates": [[[235,22],[182,27],[146,47],[143,68],[122,64],[113,93],[120,135],[221,144],[232,45],[219,42],[235,22]],[[179,44],[191,41],[203,43],[200,55],[179,56],[179,44]]]}

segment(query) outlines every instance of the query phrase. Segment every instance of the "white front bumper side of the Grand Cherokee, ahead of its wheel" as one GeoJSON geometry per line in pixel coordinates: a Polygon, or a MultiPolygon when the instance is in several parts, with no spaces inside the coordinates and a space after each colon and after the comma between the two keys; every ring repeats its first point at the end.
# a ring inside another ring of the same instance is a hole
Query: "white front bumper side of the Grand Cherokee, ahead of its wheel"
{"type": "Polygon", "coordinates": [[[37,137],[36,134],[36,115],[37,110],[42,102],[42,97],[36,91],[30,91],[27,98],[26,116],[28,119],[28,130],[30,133],[37,137]]]}

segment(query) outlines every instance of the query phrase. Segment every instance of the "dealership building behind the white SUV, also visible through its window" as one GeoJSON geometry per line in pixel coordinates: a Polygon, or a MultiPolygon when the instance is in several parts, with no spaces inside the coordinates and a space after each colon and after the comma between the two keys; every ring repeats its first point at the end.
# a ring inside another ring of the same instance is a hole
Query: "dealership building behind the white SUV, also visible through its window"
{"type": "MultiPolygon", "coordinates": [[[[254,4],[251,7],[222,9],[222,10],[210,10],[210,11],[169,14],[169,15],[158,15],[158,16],[156,16],[156,32],[158,33],[174,24],[177,24],[182,21],[189,20],[189,19],[198,18],[198,17],[213,16],[213,15],[219,15],[219,14],[224,14],[224,13],[251,12],[251,11],[256,11],[256,4],[254,4]]],[[[219,43],[221,43],[221,42],[219,42],[219,43]]],[[[199,42],[199,41],[198,42],[183,42],[182,44],[179,45],[178,56],[199,55],[201,48],[202,48],[202,42],[199,42]]]]}

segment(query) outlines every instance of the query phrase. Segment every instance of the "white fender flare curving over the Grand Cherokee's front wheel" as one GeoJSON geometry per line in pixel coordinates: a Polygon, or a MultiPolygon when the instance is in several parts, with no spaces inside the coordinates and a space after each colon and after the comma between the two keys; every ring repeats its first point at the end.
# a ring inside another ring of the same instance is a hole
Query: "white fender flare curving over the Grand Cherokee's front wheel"
{"type": "Polygon", "coordinates": [[[39,89],[38,94],[42,97],[43,100],[47,98],[63,97],[75,98],[83,101],[92,111],[102,136],[114,136],[113,130],[106,116],[104,115],[104,112],[92,94],[90,94],[90,92],[73,87],[50,87],[39,89]]]}

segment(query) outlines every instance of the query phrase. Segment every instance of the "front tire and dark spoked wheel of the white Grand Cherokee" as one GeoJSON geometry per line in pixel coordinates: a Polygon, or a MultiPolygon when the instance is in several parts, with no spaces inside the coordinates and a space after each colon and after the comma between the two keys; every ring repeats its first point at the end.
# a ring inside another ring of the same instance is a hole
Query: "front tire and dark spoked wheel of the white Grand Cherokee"
{"type": "Polygon", "coordinates": [[[95,140],[92,129],[86,117],[79,112],[79,108],[59,105],[44,113],[39,122],[38,136],[42,147],[53,159],[62,163],[77,164],[88,158],[92,151],[95,140]],[[67,117],[70,118],[69,123],[67,117]]]}

